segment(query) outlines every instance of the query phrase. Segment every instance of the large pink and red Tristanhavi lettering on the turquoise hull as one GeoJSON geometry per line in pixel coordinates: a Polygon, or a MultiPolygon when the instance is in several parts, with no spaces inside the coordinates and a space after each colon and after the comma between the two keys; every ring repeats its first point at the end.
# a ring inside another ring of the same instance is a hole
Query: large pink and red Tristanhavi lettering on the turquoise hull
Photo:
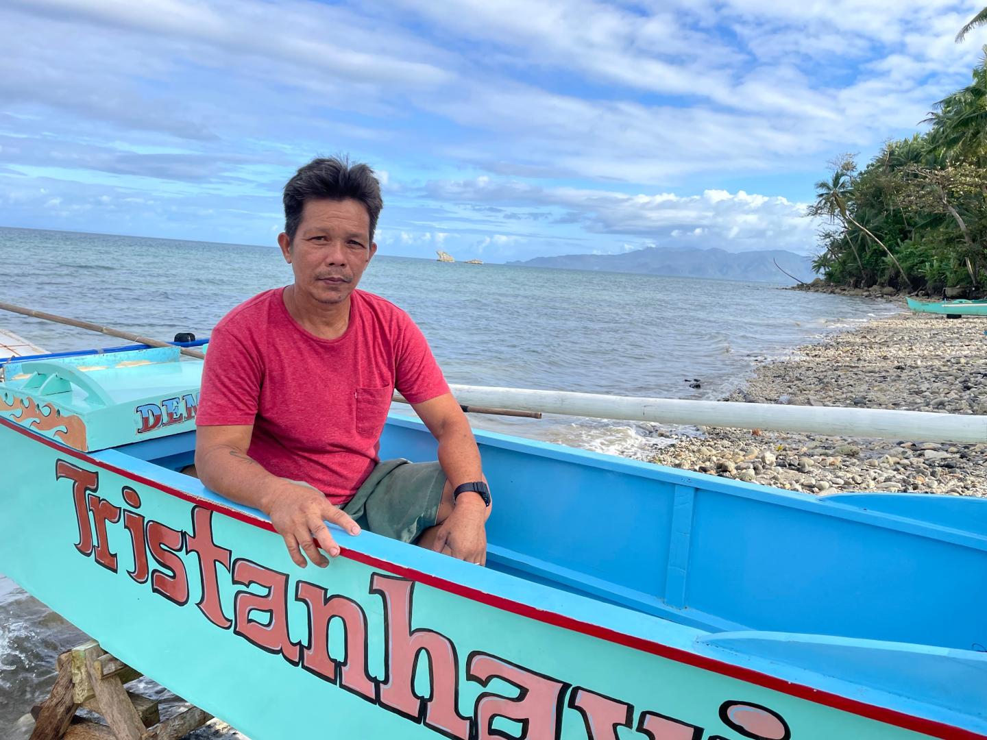
{"type": "MultiPolygon", "coordinates": [[[[367,668],[369,630],[366,612],[356,601],[330,593],[322,586],[298,580],[294,600],[308,612],[307,642],[292,641],[288,629],[290,578],[287,573],[265,567],[218,545],[212,535],[212,511],[203,506],[191,509],[191,531],[168,527],[138,513],[140,494],[129,485],[120,493],[125,507],[99,496],[99,472],[80,468],[66,460],[55,463],[55,479],[72,481],[72,500],[79,528],[75,549],[101,566],[118,572],[118,557],[109,547],[107,528],[122,520],[129,535],[133,567],[126,574],[137,583],[150,581],[151,590],[174,604],[190,601],[190,575],[197,576],[200,598],[197,609],[219,629],[232,629],[262,650],[280,655],[320,679],[361,699],[374,703],[448,738],[488,740],[509,738],[494,728],[497,717],[520,726],[517,738],[560,738],[563,712],[579,713],[589,740],[616,740],[618,727],[633,727],[649,740],[700,740],[706,728],[656,711],[642,711],[636,724],[635,707],[589,689],[537,673],[481,650],[466,659],[466,678],[486,689],[494,679],[517,690],[515,697],[482,692],[473,712],[459,710],[459,656],[455,644],[432,629],[412,628],[415,581],[375,572],[369,593],[380,597],[383,608],[384,678],[376,679],[367,668]],[[180,554],[195,554],[198,572],[190,573],[180,554]],[[150,556],[150,559],[149,559],[150,556]],[[153,565],[151,563],[153,560],[153,565]],[[218,566],[231,583],[243,586],[235,592],[232,617],[220,601],[218,566]],[[249,589],[260,586],[266,593],[249,589]],[[264,615],[265,622],[256,616],[264,615]],[[330,654],[329,628],[332,620],[344,626],[345,657],[330,654]],[[415,689],[419,653],[427,654],[430,691],[419,696],[415,689]]],[[[771,709],[755,703],[721,703],[723,724],[753,740],[790,740],[786,721],[771,709]]],[[[709,740],[729,740],[710,735],[709,740]]]]}

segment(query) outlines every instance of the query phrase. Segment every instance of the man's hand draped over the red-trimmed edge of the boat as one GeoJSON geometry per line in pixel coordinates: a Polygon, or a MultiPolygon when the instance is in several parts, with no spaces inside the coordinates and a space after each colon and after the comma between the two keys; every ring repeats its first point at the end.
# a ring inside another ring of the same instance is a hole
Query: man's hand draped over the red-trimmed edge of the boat
{"type": "Polygon", "coordinates": [[[299,567],[307,564],[305,555],[319,567],[326,567],[329,560],[319,552],[319,548],[332,557],[340,555],[340,546],[330,534],[327,521],[338,524],[351,535],[360,532],[359,525],[348,514],[331,504],[322,491],[308,485],[284,481],[284,485],[278,486],[266,498],[261,508],[270,518],[277,534],[284,538],[288,555],[299,567]]]}

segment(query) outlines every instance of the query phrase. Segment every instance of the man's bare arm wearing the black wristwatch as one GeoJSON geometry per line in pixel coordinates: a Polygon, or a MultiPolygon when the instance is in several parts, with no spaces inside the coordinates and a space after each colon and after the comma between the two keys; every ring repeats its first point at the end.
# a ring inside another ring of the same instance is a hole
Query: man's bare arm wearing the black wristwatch
{"type": "MultiPolygon", "coordinates": [[[[453,395],[445,394],[412,407],[438,441],[438,462],[451,489],[455,490],[461,483],[484,481],[477,440],[453,395]]],[[[448,547],[455,557],[484,562],[487,556],[485,525],[490,513],[491,507],[479,493],[461,493],[452,513],[439,524],[434,549],[441,552],[448,547]]]]}

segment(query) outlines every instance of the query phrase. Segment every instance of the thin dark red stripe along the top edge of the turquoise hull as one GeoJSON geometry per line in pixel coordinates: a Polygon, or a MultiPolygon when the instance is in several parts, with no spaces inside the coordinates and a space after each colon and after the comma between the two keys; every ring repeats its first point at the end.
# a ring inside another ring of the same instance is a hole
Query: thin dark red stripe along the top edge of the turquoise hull
{"type": "MultiPolygon", "coordinates": [[[[406,421],[406,423],[414,423],[411,419],[400,419],[406,421]]],[[[268,532],[276,534],[274,527],[271,525],[269,520],[259,517],[257,515],[249,513],[249,511],[242,510],[233,506],[225,505],[220,501],[216,501],[210,498],[204,498],[197,496],[189,491],[176,488],[168,483],[161,481],[154,481],[152,479],[146,478],[139,473],[133,471],[128,471],[124,468],[120,468],[111,462],[105,460],[100,460],[99,458],[93,457],[89,453],[81,452],[79,450],[73,449],[66,445],[63,445],[55,440],[38,434],[30,429],[27,429],[9,419],[0,417],[0,426],[5,426],[12,431],[18,432],[24,436],[32,438],[34,441],[41,443],[42,445],[49,447],[61,454],[69,455],[77,460],[86,462],[89,465],[106,470],[115,475],[127,478],[132,481],[139,482],[143,485],[148,485],[152,488],[162,491],[168,495],[175,496],[181,500],[191,503],[196,506],[203,506],[210,511],[215,513],[226,515],[232,519],[243,522],[245,524],[250,524],[268,532]]],[[[501,437],[503,435],[496,435],[501,437]]],[[[509,439],[509,438],[508,438],[509,439]]],[[[544,443],[542,443],[544,444],[544,443]]],[[[116,450],[110,450],[119,455],[125,455],[125,453],[117,452],[116,450]]],[[[108,452],[108,451],[104,451],[108,452]]],[[[605,456],[600,456],[605,457],[605,456]]],[[[154,465],[147,461],[140,460],[139,458],[131,458],[136,463],[141,463],[144,465],[154,465]]],[[[599,462],[599,461],[598,461],[599,462]]],[[[633,462],[633,461],[630,461],[633,462]]],[[[644,464],[641,464],[644,465],[644,464]]],[[[180,474],[176,474],[180,475],[180,474]]],[[[697,474],[699,475],[699,474],[697,474]]],[[[561,629],[569,629],[587,636],[602,639],[608,642],[622,645],[624,647],[629,647],[635,650],[641,650],[645,653],[656,655],[661,658],[668,660],[673,660],[684,665],[689,665],[700,670],[710,671],[712,673],[717,673],[728,678],[736,679],[739,681],[747,682],[760,686],[764,689],[770,691],[777,691],[782,694],[786,694],[797,699],[817,703],[824,706],[829,706],[831,708],[847,711],[858,716],[862,716],[868,719],[873,719],[877,722],[882,722],[884,724],[893,725],[906,730],[911,730],[914,732],[924,733],[932,737],[942,738],[942,740],[987,740],[987,734],[981,734],[975,730],[966,729],[964,727],[959,727],[947,722],[930,719],[928,717],[917,716],[915,714],[908,714],[904,711],[893,709],[888,706],[882,706],[879,704],[867,703],[858,699],[853,699],[848,696],[842,696],[840,694],[833,693],[824,689],[816,689],[811,686],[797,683],[796,681],[791,681],[788,679],[781,678],[776,675],[769,673],[764,673],[763,671],[750,668],[747,666],[739,665],[736,663],[729,663],[721,659],[705,655],[702,653],[690,651],[683,649],[681,647],[675,647],[672,645],[663,644],[652,639],[647,639],[637,634],[631,634],[628,632],[623,632],[618,629],[613,629],[609,627],[603,627],[600,625],[594,625],[590,622],[584,620],[570,617],[569,615],[560,614],[558,612],[553,612],[548,609],[538,609],[521,602],[514,601],[508,597],[501,596],[499,594],[489,593],[480,590],[473,586],[467,586],[462,583],[457,583],[455,581],[449,580],[447,578],[436,576],[431,573],[427,573],[416,568],[403,565],[397,562],[392,562],[390,560],[378,557],[376,555],[368,555],[362,553],[358,550],[352,548],[341,546],[341,557],[346,557],[348,559],[355,560],[361,564],[367,565],[369,567],[379,567],[381,569],[387,570],[389,572],[395,573],[405,578],[409,578],[415,582],[422,583],[426,586],[436,588],[447,593],[453,594],[455,596],[461,596],[463,598],[475,601],[486,606],[493,607],[494,609],[499,609],[526,619],[532,619],[537,622],[541,622],[553,627],[561,629]]],[[[583,597],[588,598],[588,597],[583,597]]],[[[653,618],[660,619],[660,618],[653,618]]],[[[702,631],[696,630],[694,631],[702,631]]],[[[855,686],[858,688],[870,688],[858,684],[853,684],[852,682],[836,679],[842,683],[855,686]]],[[[880,691],[877,689],[877,691],[880,691]]],[[[908,700],[909,698],[901,697],[900,695],[887,694],[886,696],[895,697],[898,699],[908,700]]],[[[915,700],[911,700],[915,701],[915,700]]],[[[938,708],[940,710],[946,710],[945,707],[930,705],[931,708],[938,708]]]]}

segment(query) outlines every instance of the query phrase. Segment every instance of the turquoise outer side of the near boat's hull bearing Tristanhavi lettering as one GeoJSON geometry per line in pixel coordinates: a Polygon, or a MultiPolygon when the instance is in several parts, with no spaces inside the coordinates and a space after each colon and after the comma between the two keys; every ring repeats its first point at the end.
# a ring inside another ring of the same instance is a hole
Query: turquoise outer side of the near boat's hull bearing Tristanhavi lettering
{"type": "Polygon", "coordinates": [[[255,740],[983,737],[697,654],[661,620],[612,629],[592,615],[616,607],[369,534],[298,568],[256,512],[114,451],[7,421],[0,449],[2,569],[255,740]]]}

